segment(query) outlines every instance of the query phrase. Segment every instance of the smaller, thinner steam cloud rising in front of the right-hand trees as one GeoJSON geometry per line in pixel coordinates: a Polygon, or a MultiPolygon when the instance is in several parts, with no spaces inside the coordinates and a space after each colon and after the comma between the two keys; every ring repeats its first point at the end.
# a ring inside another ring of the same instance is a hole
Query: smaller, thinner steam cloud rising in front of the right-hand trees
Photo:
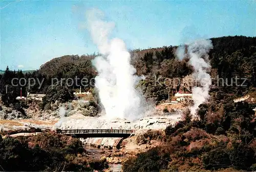
{"type": "MultiPolygon", "coordinates": [[[[196,40],[188,45],[187,54],[189,64],[194,67],[193,77],[200,82],[201,87],[192,89],[192,98],[194,105],[190,107],[191,114],[195,115],[198,106],[206,102],[209,98],[209,89],[211,85],[210,75],[207,70],[211,68],[209,64],[209,51],[213,46],[210,39],[196,40]]],[[[178,58],[182,60],[185,54],[185,47],[180,46],[176,52],[178,58]]]]}

